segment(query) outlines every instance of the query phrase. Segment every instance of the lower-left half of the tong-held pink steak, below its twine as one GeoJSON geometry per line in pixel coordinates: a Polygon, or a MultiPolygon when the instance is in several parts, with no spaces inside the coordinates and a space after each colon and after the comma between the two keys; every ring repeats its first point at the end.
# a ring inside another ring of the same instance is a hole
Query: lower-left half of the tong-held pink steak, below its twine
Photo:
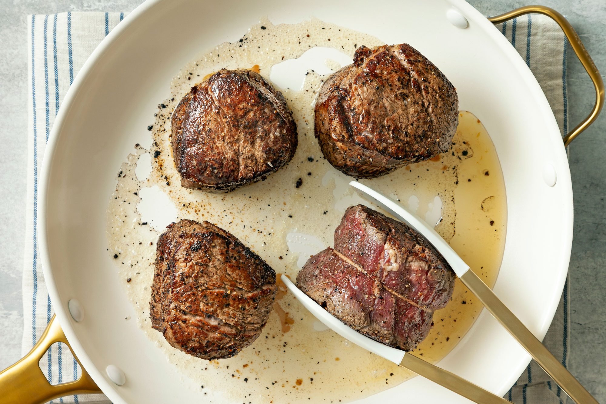
{"type": "Polygon", "coordinates": [[[309,258],[296,284],[336,318],[389,346],[411,351],[431,327],[430,311],[385,290],[331,248],[309,258]]]}

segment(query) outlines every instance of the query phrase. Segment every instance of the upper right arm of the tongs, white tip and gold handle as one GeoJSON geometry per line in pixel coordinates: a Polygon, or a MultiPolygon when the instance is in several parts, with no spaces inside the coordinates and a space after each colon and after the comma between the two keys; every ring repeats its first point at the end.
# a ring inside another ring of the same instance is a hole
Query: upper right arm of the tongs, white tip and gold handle
{"type": "Polygon", "coordinates": [[[358,181],[351,181],[350,185],[360,190],[364,194],[373,198],[387,212],[390,212],[396,218],[407,223],[416,231],[421,233],[434,247],[444,256],[448,264],[452,267],[454,273],[461,279],[467,288],[479,298],[485,308],[493,315],[499,323],[518,341],[522,348],[550,375],[551,379],[568,394],[577,404],[598,404],[596,399],[591,397],[591,394],[574,379],[574,376],[568,372],[568,369],[562,365],[552,354],[545,348],[541,341],[536,338],[518,317],[516,317],[507,306],[486,286],[486,284],[470,271],[470,268],[459,257],[456,252],[448,245],[444,238],[440,237],[433,227],[428,226],[424,221],[416,215],[408,212],[400,204],[385,195],[376,192],[375,190],[362,185],[358,181]]]}

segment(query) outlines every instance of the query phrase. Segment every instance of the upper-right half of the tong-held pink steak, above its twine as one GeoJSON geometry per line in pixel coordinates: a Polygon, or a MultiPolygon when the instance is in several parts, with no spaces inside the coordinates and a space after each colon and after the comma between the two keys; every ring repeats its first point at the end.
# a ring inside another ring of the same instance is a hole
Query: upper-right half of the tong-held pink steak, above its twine
{"type": "Polygon", "coordinates": [[[452,296],[454,272],[435,247],[367,206],[345,210],[335,229],[335,249],[385,288],[431,311],[444,308],[452,296]]]}

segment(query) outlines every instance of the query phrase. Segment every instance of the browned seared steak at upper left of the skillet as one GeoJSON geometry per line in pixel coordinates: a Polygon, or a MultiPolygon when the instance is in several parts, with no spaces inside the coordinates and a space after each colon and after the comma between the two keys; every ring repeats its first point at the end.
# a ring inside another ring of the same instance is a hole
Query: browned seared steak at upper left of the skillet
{"type": "Polygon", "coordinates": [[[293,158],[297,128],[282,93],[251,70],[219,70],[191,87],[171,118],[181,186],[228,192],[293,158]]]}

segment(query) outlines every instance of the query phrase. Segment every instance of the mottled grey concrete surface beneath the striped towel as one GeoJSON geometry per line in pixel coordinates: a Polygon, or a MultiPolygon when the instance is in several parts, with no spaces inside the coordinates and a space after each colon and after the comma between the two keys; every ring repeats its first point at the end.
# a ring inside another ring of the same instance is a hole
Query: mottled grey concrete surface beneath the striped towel
{"type": "MultiPolygon", "coordinates": [[[[485,15],[533,1],[470,0],[485,15]]],[[[606,1],[538,1],[563,13],[606,73],[606,1]]],[[[25,229],[27,147],[27,22],[32,13],[130,11],[137,0],[0,1],[0,369],[21,354],[21,272],[25,229]]],[[[573,52],[568,52],[568,110],[571,127],[593,105],[593,87],[573,52]]],[[[606,113],[570,147],[574,189],[574,241],[570,261],[570,369],[599,402],[606,402],[606,113]]]]}

